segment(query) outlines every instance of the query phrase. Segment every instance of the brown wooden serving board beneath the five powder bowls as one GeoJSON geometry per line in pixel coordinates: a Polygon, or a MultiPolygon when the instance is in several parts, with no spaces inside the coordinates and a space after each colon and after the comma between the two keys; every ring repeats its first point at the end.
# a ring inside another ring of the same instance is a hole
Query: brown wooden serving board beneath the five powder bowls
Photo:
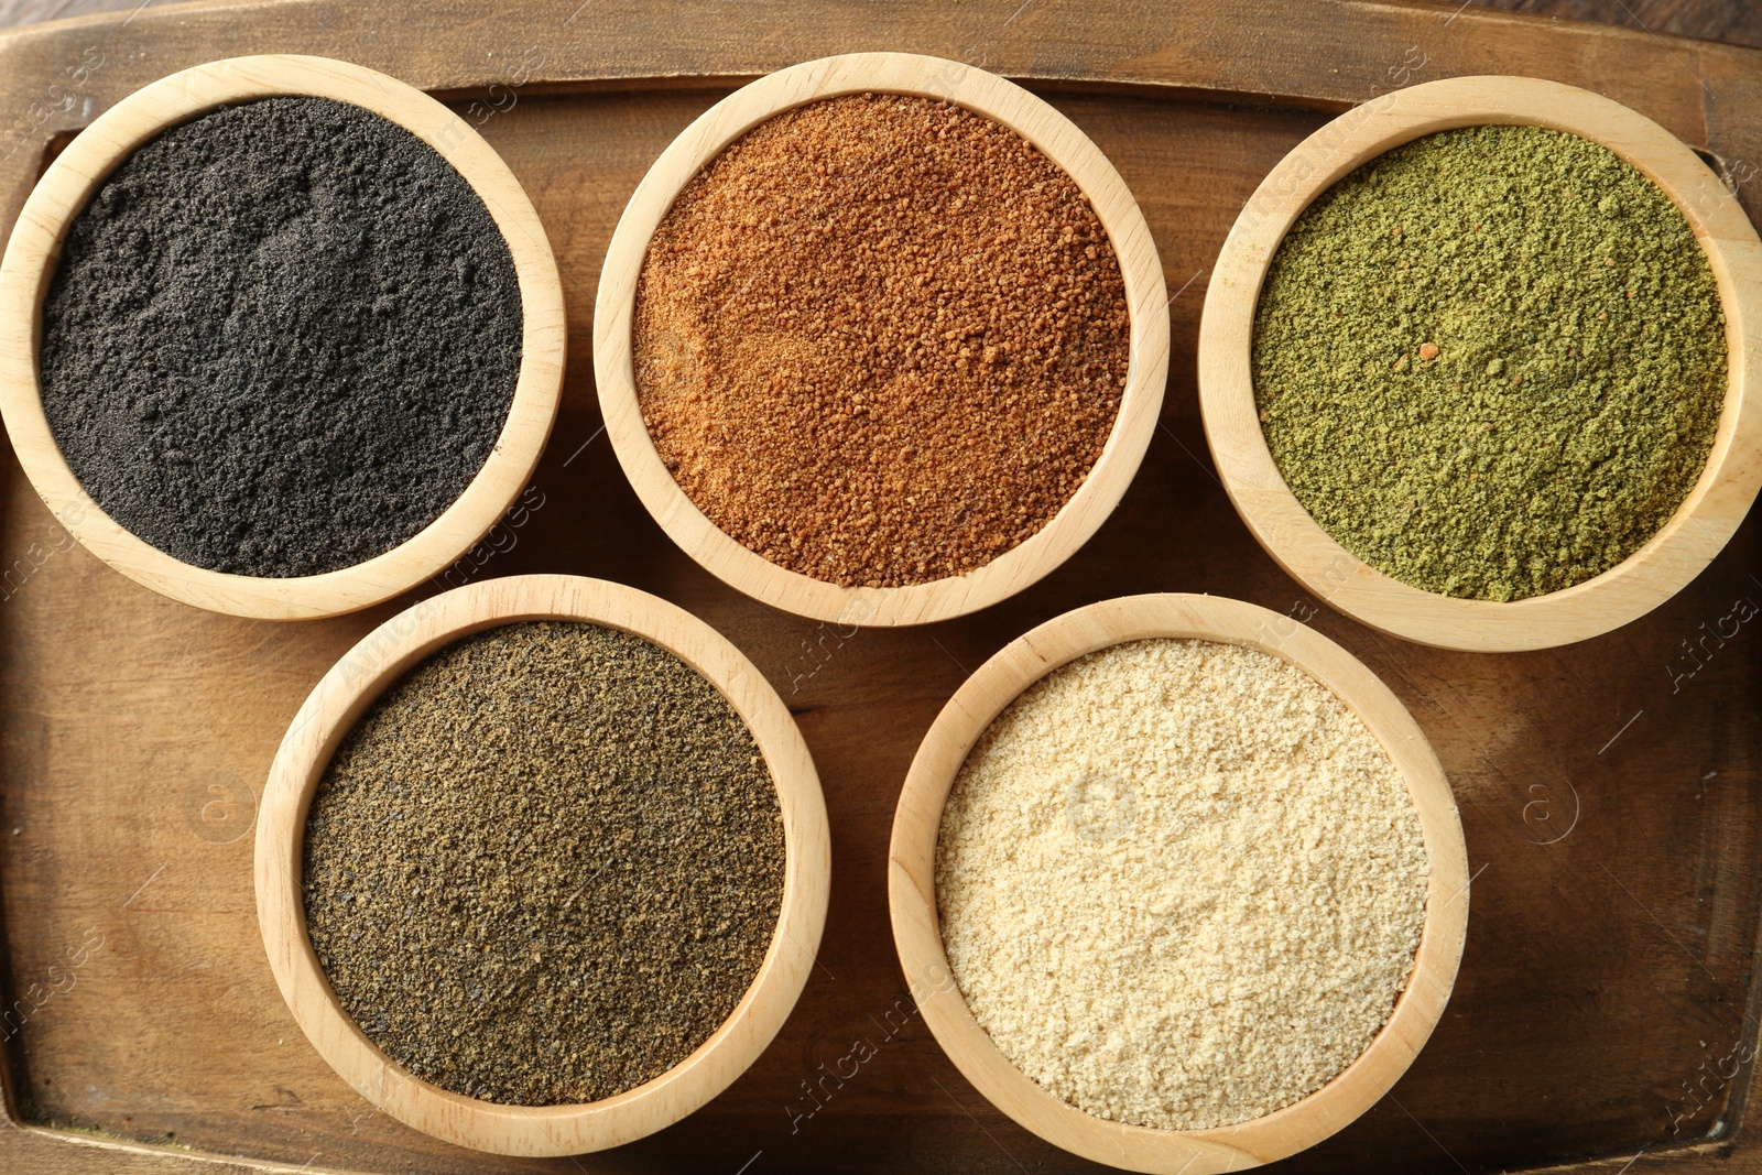
{"type": "Polygon", "coordinates": [[[241,53],[340,56],[439,93],[525,183],[564,271],[564,409],[518,525],[453,581],[631,583],[752,657],[825,780],[825,946],[758,1064],[622,1150],[506,1161],[375,1113],[277,994],[248,823],[305,694],[411,597],[307,624],[171,602],[72,546],[7,451],[0,985],[14,1129],[0,1131],[0,1170],[204,1171],[215,1156],[307,1171],[1085,1168],[990,1110],[918,1020],[888,932],[888,826],[918,740],[973,668],[1061,611],[1159,590],[1276,608],[1355,652],[1427,731],[1462,810],[1473,916],[1443,1022],[1388,1097],[1284,1170],[1762,1170],[1744,1127],[1762,921],[1755,520],[1670,604],[1600,639],[1521,655],[1408,645],[1329,611],[1255,546],[1212,476],[1193,382],[1207,273],[1237,208],[1332,113],[1452,74],[1554,78],[1709,151],[1755,217],[1762,53],[1314,0],[164,7],[0,39],[0,111],[16,120],[0,122],[0,227],[95,113],[241,53]],[[594,400],[594,285],[643,169],[740,79],[853,49],[967,60],[1048,97],[1131,185],[1173,294],[1163,421],[1115,516],[1029,592],[927,629],[840,629],[724,588],[641,511],[594,400]]]}

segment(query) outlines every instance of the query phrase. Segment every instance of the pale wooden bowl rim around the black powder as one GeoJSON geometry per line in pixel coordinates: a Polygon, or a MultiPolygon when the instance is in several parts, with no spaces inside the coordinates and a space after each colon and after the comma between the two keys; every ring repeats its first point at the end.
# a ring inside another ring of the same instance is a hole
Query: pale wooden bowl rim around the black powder
{"type": "Polygon", "coordinates": [[[104,111],[37,181],[0,261],[0,416],[55,518],[93,555],[162,595],[211,611],[301,620],[389,599],[449,565],[495,525],[537,465],[562,389],[562,284],[544,227],[507,164],[453,111],[386,74],[321,56],[236,56],[162,78],[104,111]],[[229,102],[337,99],[389,118],[439,151],[483,199],[520,282],[520,377],[500,437],[465,491],[428,527],[352,567],[285,580],[194,567],[106,514],[67,467],[37,382],[42,298],[62,240],[92,194],[160,132],[229,102]]]}

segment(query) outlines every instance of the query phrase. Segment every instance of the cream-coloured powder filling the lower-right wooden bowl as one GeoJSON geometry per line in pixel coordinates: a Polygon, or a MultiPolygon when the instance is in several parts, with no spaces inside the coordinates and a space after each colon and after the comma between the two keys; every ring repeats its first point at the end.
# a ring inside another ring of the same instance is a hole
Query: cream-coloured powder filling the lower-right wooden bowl
{"type": "Polygon", "coordinates": [[[1371,1043],[1425,916],[1418,814],[1327,687],[1151,639],[1010,705],[943,812],[948,960],[1043,1089],[1161,1129],[1320,1089],[1371,1043]]]}

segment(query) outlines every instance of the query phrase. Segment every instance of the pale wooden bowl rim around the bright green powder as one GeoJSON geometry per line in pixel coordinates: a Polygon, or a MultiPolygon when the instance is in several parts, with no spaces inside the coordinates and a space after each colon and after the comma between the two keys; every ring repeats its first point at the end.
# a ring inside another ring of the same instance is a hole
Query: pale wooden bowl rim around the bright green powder
{"type": "Polygon", "coordinates": [[[1676,595],[1725,546],[1762,484],[1755,294],[1762,243],[1737,201],[1676,136],[1619,102],[1536,78],[1450,78],[1357,106],[1304,139],[1262,181],[1218,255],[1200,321],[1200,409],[1218,476],[1267,553],[1320,599],[1371,627],[1443,648],[1510,652],[1582,641],[1676,595]],[[1670,197],[1700,240],[1725,308],[1725,409],[1700,479],[1665,527],[1609,571],[1559,592],[1496,602],[1394,580],[1336,543],[1284,484],[1255,409],[1260,285],[1286,229],[1360,164],[1420,136],[1487,123],[1602,143],[1670,197]]]}

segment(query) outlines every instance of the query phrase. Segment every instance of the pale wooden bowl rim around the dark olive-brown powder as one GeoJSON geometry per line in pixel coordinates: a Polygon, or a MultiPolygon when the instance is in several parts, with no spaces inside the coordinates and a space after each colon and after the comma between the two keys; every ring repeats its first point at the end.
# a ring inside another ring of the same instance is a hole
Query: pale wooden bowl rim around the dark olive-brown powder
{"type": "Polygon", "coordinates": [[[782,699],[710,625],[636,588],[576,576],[486,580],[430,597],[379,625],[338,661],[282,740],[257,817],[257,921],[270,969],[300,1029],[363,1097],[405,1126],[460,1147],[518,1156],[601,1150],[650,1134],[722,1092],[765,1050],[814,965],[830,884],[826,803],[782,699]],[[784,891],[752,987],[682,1062],[603,1101],[511,1106],[412,1076],[337,1002],[307,937],[301,844],[307,807],[342,736],[405,669],[444,645],[518,620],[587,620],[641,636],[707,676],[752,729],[782,805],[784,891]]]}

